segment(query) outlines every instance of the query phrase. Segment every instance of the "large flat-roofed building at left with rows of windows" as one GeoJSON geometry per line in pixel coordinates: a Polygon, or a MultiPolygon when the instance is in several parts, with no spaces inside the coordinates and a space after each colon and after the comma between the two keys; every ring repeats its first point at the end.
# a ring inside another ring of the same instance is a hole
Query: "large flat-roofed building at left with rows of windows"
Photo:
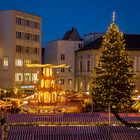
{"type": "Polygon", "coordinates": [[[41,63],[40,16],[16,11],[0,11],[0,88],[34,88],[39,69],[26,64],[41,63]]]}

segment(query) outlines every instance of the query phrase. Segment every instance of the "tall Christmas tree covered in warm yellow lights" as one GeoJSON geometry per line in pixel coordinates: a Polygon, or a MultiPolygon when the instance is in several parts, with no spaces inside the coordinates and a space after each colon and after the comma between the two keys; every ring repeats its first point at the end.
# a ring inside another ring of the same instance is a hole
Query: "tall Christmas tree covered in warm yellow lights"
{"type": "Polygon", "coordinates": [[[113,15],[113,23],[102,39],[97,68],[93,70],[93,111],[108,112],[110,108],[117,119],[128,125],[118,113],[131,106],[134,90],[133,62],[125,50],[123,33],[114,23],[113,15]]]}

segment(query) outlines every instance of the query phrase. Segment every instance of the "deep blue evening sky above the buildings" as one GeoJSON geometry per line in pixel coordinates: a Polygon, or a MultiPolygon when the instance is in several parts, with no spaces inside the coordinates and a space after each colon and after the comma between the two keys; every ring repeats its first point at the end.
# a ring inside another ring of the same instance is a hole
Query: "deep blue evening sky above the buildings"
{"type": "Polygon", "coordinates": [[[81,36],[106,32],[113,11],[120,31],[140,34],[140,0],[0,0],[0,10],[11,9],[42,17],[43,47],[72,27],[81,36]]]}

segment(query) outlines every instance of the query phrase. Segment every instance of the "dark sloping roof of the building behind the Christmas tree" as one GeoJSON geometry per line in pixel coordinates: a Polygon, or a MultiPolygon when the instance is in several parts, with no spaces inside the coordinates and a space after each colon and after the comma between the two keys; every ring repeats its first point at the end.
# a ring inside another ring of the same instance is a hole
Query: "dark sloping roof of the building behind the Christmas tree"
{"type": "MultiPolygon", "coordinates": [[[[140,35],[137,34],[124,34],[124,40],[126,44],[127,50],[140,50],[140,35]]],[[[96,39],[95,41],[90,42],[89,44],[85,45],[79,51],[86,51],[86,50],[93,50],[99,49],[101,46],[102,37],[96,39]]]]}

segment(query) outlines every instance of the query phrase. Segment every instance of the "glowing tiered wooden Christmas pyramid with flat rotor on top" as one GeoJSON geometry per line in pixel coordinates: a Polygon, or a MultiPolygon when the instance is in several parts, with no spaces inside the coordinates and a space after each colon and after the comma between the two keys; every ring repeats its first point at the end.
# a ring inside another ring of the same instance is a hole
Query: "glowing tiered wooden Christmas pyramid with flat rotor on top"
{"type": "Polygon", "coordinates": [[[35,102],[38,103],[56,103],[59,102],[58,96],[61,95],[60,82],[57,76],[53,75],[53,68],[68,67],[66,64],[52,65],[52,64],[28,64],[27,67],[43,68],[40,79],[40,86],[37,93],[35,93],[35,102]]]}

